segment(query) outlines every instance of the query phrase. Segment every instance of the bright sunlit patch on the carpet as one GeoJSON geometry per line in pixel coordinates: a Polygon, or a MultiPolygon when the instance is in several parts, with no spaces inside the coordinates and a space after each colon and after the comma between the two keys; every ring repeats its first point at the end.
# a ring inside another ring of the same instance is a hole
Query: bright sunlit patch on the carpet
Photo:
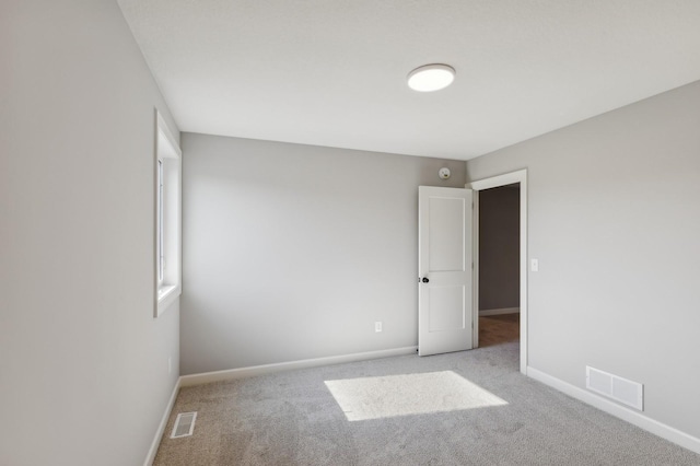
{"type": "Polygon", "coordinates": [[[349,421],[508,405],[453,371],[325,383],[349,421]]]}

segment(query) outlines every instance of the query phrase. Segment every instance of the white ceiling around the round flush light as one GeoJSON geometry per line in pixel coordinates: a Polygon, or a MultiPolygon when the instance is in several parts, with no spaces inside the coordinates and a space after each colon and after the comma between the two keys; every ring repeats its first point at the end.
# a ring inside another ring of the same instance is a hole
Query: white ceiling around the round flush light
{"type": "Polygon", "coordinates": [[[118,3],[183,131],[468,160],[700,79],[698,0],[118,3]]]}

